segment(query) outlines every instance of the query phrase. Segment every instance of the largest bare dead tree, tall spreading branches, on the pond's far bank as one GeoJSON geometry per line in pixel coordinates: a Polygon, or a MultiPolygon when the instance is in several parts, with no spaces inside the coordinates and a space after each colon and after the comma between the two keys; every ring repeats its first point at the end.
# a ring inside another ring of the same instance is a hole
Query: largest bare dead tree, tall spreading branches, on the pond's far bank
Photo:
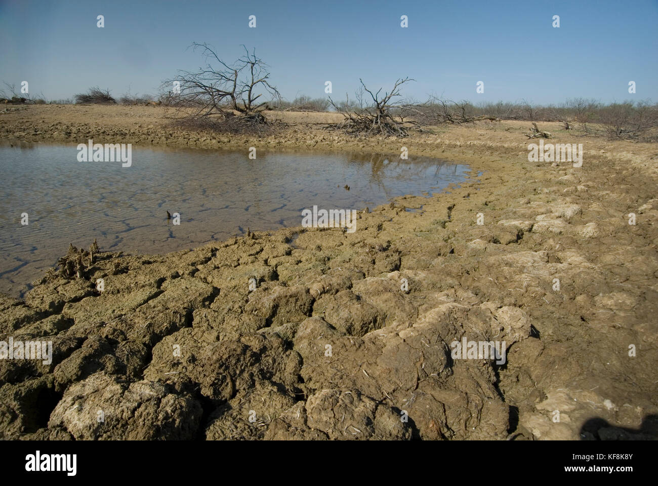
{"type": "Polygon", "coordinates": [[[168,105],[176,107],[175,118],[199,126],[215,126],[241,131],[266,124],[263,111],[268,109],[269,99],[280,99],[280,94],[269,82],[270,73],[255,49],[228,65],[207,45],[193,43],[193,50],[201,49],[207,61],[196,71],[180,70],[173,80],[163,82],[163,87],[177,86],[166,94],[168,105]],[[238,116],[234,116],[235,112],[238,116]]]}

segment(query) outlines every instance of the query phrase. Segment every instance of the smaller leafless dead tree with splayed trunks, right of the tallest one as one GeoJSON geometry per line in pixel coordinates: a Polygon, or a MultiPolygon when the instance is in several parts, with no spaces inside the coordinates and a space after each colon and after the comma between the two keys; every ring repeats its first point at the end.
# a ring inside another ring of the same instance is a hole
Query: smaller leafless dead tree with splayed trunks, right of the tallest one
{"type": "Polygon", "coordinates": [[[353,111],[343,110],[343,107],[350,106],[349,98],[344,105],[342,103],[337,105],[329,97],[332,107],[345,117],[345,120],[338,127],[351,134],[381,134],[397,137],[409,135],[405,125],[409,123],[416,124],[417,122],[405,121],[402,112],[405,105],[400,93],[401,86],[409,81],[415,80],[411,78],[398,79],[395,81],[393,89],[390,92],[384,92],[380,97],[382,88],[373,93],[368,90],[363,80],[359,79],[362,91],[357,92],[359,107],[355,107],[353,111]],[[367,97],[365,94],[370,95],[370,100],[365,101],[363,99],[367,97]]]}

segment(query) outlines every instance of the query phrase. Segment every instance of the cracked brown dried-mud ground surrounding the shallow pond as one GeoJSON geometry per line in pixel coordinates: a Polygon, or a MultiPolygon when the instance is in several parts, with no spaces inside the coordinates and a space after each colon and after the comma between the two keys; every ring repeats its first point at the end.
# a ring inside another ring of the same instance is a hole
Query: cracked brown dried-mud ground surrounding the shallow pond
{"type": "Polygon", "coordinates": [[[53,361],[0,360],[0,437],[658,437],[657,144],[540,124],[551,142],[584,145],[574,168],[528,162],[527,122],[397,140],[325,130],[336,115],[283,113],[290,126],[248,138],[172,130],[163,113],[32,106],[0,114],[0,134],[405,146],[473,170],[445,194],[359,213],[351,234],[297,228],[175,254],[105,252],[80,279],[44,277],[24,302],[3,298],[2,338],[51,340],[53,361]],[[505,340],[505,364],[453,359],[462,337],[505,340]]]}

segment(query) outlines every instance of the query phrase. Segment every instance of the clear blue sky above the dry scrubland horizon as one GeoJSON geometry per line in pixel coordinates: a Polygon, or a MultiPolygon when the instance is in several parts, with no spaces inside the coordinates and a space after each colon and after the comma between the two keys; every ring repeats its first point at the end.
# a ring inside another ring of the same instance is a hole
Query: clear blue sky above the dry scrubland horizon
{"type": "Polygon", "coordinates": [[[203,65],[196,41],[227,61],[255,47],[288,99],[324,97],[327,80],[343,99],[360,77],[378,88],[410,76],[415,99],[658,101],[657,26],[658,0],[0,0],[0,81],[49,99],[90,86],[154,94],[203,65]]]}

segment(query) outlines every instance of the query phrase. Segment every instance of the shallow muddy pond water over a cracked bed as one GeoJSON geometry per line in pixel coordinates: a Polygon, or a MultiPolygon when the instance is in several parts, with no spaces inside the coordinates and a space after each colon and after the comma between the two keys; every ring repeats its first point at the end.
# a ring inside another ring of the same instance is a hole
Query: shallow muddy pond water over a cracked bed
{"type": "Polygon", "coordinates": [[[102,251],[174,252],[248,227],[299,226],[313,205],[362,210],[439,192],[468,170],[385,155],[259,151],[251,160],[243,152],[133,146],[125,168],[77,155],[76,146],[0,146],[0,292],[21,295],[69,243],[88,248],[97,238],[102,251]],[[166,211],[180,213],[180,225],[166,211]]]}

